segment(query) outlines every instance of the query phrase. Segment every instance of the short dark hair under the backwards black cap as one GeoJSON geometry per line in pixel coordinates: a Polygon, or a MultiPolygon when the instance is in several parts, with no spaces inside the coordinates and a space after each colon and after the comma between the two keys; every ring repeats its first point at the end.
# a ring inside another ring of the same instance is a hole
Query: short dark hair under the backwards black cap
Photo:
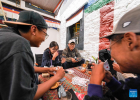
{"type": "MultiPolygon", "coordinates": [[[[20,31],[23,32],[23,33],[29,32],[30,28],[31,28],[30,25],[18,25],[18,26],[17,26],[17,29],[20,30],[20,31]]],[[[37,29],[38,29],[39,31],[41,31],[41,30],[44,29],[44,28],[37,26],[37,29]]]]}

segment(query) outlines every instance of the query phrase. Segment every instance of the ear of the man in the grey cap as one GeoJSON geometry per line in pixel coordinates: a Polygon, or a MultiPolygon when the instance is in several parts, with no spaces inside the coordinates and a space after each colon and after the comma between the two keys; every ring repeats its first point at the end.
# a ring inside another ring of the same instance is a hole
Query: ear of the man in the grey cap
{"type": "Polygon", "coordinates": [[[132,51],[137,46],[137,37],[133,32],[127,32],[124,34],[124,39],[127,41],[127,46],[132,51]]]}

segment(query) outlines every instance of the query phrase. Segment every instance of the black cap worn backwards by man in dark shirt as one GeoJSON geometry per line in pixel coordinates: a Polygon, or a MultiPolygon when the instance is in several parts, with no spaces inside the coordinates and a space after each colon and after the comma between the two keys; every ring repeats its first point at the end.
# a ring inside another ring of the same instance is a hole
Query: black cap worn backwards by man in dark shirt
{"type": "Polygon", "coordinates": [[[10,27],[17,27],[17,25],[36,25],[37,27],[48,28],[44,18],[34,11],[21,11],[17,22],[4,21],[4,23],[10,27]]]}

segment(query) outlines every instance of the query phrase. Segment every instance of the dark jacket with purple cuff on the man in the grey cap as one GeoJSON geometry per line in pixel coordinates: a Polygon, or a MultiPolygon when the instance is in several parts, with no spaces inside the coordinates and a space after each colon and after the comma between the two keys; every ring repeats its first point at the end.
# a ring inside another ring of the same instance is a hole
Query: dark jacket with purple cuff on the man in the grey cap
{"type": "MultiPolygon", "coordinates": [[[[140,79],[139,78],[128,78],[123,81],[117,81],[114,77],[111,79],[109,83],[106,85],[111,90],[114,97],[116,97],[118,100],[134,100],[134,98],[129,97],[129,89],[137,89],[138,95],[140,95],[140,79]]],[[[89,84],[90,85],[90,84],[89,84]]],[[[107,99],[105,96],[101,96],[101,92],[99,92],[100,88],[95,88],[95,85],[92,84],[88,87],[88,95],[85,97],[85,100],[110,100],[107,99]],[[91,87],[92,86],[92,87],[91,87]],[[90,91],[91,90],[91,91],[90,91]],[[99,93],[96,93],[98,91],[99,93]]],[[[101,91],[101,90],[100,90],[101,91]]],[[[135,98],[135,100],[140,100],[139,97],[135,98]]]]}

